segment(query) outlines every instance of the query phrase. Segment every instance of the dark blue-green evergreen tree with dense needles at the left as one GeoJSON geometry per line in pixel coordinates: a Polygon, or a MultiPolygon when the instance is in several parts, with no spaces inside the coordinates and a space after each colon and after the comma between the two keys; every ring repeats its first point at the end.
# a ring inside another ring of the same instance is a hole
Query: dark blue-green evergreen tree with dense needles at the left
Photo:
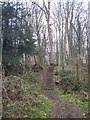
{"type": "MultiPolygon", "coordinates": [[[[27,21],[27,10],[22,3],[2,2],[2,30],[3,49],[2,64],[6,68],[8,65],[17,66],[21,64],[23,54],[33,54],[35,51],[35,40],[33,32],[27,21]]],[[[8,73],[12,72],[8,70],[8,73]]],[[[16,71],[15,71],[16,72],[16,71]]]]}

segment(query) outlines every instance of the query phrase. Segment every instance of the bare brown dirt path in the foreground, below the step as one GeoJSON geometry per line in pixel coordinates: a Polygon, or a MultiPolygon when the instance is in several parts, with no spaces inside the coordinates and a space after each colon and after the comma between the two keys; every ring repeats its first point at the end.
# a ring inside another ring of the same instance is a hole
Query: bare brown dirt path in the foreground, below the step
{"type": "MultiPolygon", "coordinates": [[[[45,76],[43,76],[43,74],[41,75],[41,78],[45,80],[45,76]]],[[[83,112],[76,104],[63,102],[62,98],[60,98],[54,89],[43,90],[43,94],[49,100],[52,100],[54,104],[54,107],[51,110],[51,118],[85,118],[83,112]]]]}

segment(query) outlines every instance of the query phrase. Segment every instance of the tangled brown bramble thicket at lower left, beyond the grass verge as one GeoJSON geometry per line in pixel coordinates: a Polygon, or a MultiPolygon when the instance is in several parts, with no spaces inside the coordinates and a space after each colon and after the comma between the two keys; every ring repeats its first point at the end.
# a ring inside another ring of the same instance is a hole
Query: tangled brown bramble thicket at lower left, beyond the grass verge
{"type": "Polygon", "coordinates": [[[35,104],[34,95],[28,91],[24,79],[9,76],[3,80],[3,116],[24,117],[35,104]],[[7,93],[7,94],[6,94],[7,93]]]}

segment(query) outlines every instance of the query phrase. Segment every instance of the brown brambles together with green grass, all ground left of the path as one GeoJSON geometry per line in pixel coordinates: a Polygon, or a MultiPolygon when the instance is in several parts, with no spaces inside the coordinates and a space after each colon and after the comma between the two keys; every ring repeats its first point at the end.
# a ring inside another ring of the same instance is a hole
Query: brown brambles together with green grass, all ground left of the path
{"type": "Polygon", "coordinates": [[[3,87],[3,117],[46,118],[50,115],[52,102],[41,94],[39,74],[7,76],[3,87]]]}

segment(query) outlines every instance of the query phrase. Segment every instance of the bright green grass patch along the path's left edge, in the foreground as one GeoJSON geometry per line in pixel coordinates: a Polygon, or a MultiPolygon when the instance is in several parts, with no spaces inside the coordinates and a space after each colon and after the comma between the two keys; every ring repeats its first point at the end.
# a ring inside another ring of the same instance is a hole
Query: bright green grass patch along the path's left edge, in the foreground
{"type": "Polygon", "coordinates": [[[44,95],[38,95],[37,103],[31,112],[32,118],[48,118],[50,116],[49,109],[52,107],[52,102],[44,95]]]}

